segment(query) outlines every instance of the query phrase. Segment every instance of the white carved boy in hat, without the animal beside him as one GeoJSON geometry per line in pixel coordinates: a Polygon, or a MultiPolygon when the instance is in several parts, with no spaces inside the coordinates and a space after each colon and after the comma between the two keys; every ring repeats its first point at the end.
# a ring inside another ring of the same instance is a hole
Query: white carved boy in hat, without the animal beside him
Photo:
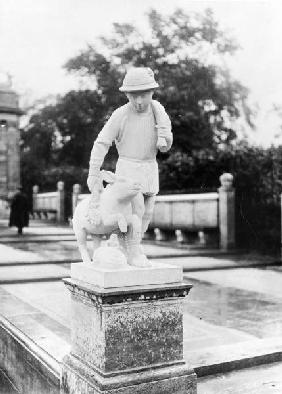
{"type": "Polygon", "coordinates": [[[87,184],[93,193],[101,185],[100,168],[109,147],[115,142],[119,158],[116,174],[141,184],[142,194],[132,203],[142,221],[142,234],[152,217],[159,191],[157,150],[166,152],[172,145],[171,122],[164,107],[152,100],[159,85],[147,67],[129,69],[120,87],[128,103],[116,109],[94,142],[87,184]]]}

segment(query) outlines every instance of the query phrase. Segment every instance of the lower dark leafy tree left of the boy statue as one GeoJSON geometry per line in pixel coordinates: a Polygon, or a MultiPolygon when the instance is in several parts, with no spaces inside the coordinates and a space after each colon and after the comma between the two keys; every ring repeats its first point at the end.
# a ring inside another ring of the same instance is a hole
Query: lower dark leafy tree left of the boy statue
{"type": "MultiPolygon", "coordinates": [[[[94,139],[106,121],[107,111],[96,91],[71,91],[57,102],[34,111],[21,133],[21,173],[31,189],[54,189],[64,179],[68,186],[86,185],[86,171],[94,139]],[[52,182],[53,179],[53,182],[52,182]]],[[[108,154],[110,168],[116,152],[108,154]]]]}

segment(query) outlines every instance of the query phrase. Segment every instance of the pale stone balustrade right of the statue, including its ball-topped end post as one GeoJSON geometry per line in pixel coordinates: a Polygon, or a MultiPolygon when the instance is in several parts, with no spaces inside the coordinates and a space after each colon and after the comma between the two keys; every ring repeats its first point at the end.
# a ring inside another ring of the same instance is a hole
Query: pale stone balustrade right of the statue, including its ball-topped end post
{"type": "MultiPolygon", "coordinates": [[[[156,197],[147,232],[156,241],[217,245],[222,250],[235,246],[235,189],[233,175],[224,173],[217,193],[174,194],[156,197]]],[[[73,210],[88,194],[73,186],[73,210]]]]}

